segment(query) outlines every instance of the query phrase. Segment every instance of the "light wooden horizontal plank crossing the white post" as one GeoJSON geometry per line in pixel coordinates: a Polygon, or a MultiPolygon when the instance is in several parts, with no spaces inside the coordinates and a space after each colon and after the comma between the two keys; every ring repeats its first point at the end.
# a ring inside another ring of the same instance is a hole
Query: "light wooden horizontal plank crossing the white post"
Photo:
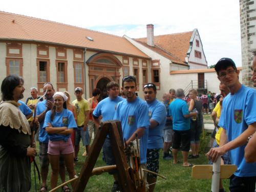
{"type": "MultiPolygon", "coordinates": [[[[236,165],[221,165],[221,179],[229,178],[236,172],[236,165]]],[[[195,165],[192,167],[191,177],[194,179],[211,179],[212,165],[195,165]]]]}

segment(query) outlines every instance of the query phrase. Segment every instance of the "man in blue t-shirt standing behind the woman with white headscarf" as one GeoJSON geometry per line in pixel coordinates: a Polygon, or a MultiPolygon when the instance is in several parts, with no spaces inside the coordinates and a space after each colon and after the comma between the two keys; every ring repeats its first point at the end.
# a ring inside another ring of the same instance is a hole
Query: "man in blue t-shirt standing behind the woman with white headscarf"
{"type": "MultiPolygon", "coordinates": [[[[48,158],[48,134],[44,127],[44,121],[45,121],[45,115],[48,111],[50,111],[53,108],[53,95],[54,95],[54,89],[53,85],[50,82],[47,82],[44,84],[44,87],[42,88],[44,90],[44,93],[47,91],[45,97],[46,99],[44,101],[38,102],[36,106],[36,117],[40,123],[39,127],[39,162],[41,167],[41,178],[42,178],[42,184],[40,191],[46,191],[47,190],[47,175],[49,170],[49,158],[48,158]]],[[[60,158],[59,161],[59,175],[62,182],[65,182],[65,163],[63,161],[63,158],[60,158]]],[[[64,188],[67,188],[67,185],[64,186],[64,188]]]]}

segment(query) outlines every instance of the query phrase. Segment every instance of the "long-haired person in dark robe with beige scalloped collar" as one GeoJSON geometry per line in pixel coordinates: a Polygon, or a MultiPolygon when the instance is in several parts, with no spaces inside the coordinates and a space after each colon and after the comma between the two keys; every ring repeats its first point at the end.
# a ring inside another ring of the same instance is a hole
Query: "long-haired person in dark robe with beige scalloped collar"
{"type": "Polygon", "coordinates": [[[24,80],[17,75],[7,76],[1,86],[0,103],[0,191],[29,191],[30,160],[35,148],[30,147],[30,125],[19,110],[23,98],[24,80]]]}

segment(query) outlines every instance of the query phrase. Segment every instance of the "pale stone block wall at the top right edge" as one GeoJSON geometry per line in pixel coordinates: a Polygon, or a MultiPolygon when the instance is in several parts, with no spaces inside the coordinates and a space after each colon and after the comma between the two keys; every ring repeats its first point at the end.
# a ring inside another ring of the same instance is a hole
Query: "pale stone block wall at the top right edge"
{"type": "Polygon", "coordinates": [[[252,86],[252,52],[256,51],[256,0],[240,0],[241,50],[243,84],[252,86]]]}

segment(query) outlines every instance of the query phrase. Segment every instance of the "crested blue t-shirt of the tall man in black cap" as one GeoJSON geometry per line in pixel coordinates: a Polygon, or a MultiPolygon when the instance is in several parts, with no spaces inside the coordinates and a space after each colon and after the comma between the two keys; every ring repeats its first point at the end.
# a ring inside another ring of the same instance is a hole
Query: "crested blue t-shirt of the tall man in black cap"
{"type": "MultiPolygon", "coordinates": [[[[242,85],[240,90],[224,98],[219,126],[226,130],[228,141],[236,139],[256,122],[256,90],[242,85]]],[[[244,148],[246,144],[230,151],[230,161],[238,166],[234,175],[238,177],[256,176],[256,163],[246,163],[244,148]]]]}

